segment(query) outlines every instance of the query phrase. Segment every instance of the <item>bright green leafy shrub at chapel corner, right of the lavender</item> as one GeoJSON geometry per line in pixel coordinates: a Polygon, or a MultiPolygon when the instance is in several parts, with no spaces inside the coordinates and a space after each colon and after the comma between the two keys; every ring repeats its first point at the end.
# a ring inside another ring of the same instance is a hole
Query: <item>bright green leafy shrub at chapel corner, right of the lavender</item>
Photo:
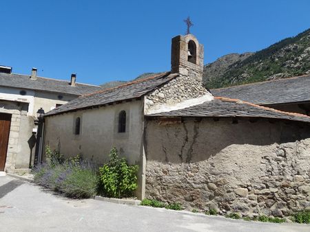
{"type": "Polygon", "coordinates": [[[118,157],[116,148],[110,151],[110,161],[99,167],[100,192],[108,197],[133,196],[137,187],[138,165],[128,165],[118,157]]]}

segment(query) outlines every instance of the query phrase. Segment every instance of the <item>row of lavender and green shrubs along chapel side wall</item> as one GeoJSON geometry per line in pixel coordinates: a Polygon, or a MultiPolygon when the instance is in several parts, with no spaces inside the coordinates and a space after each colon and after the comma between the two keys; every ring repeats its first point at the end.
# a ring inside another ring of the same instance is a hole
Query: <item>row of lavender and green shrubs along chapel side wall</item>
{"type": "Polygon", "coordinates": [[[117,150],[110,152],[110,161],[97,168],[81,155],[65,160],[59,152],[46,148],[48,162],[34,168],[34,182],[71,198],[134,196],[137,187],[137,165],[128,165],[117,150]]]}

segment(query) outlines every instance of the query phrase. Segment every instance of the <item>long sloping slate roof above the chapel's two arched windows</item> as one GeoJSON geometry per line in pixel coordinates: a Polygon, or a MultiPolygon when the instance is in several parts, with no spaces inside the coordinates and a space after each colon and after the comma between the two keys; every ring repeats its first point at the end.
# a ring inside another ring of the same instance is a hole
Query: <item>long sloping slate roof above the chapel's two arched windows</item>
{"type": "Polygon", "coordinates": [[[176,73],[160,73],[150,78],[136,80],[111,89],[103,89],[95,93],[82,95],[72,100],[71,102],[68,102],[67,104],[49,111],[45,114],[45,116],[57,115],[70,111],[77,111],[86,108],[92,108],[94,106],[102,106],[112,102],[119,102],[141,97],[142,95],[149,93],[149,91],[156,89],[156,87],[165,84],[173,78],[176,78],[176,76],[178,76],[176,73]]]}

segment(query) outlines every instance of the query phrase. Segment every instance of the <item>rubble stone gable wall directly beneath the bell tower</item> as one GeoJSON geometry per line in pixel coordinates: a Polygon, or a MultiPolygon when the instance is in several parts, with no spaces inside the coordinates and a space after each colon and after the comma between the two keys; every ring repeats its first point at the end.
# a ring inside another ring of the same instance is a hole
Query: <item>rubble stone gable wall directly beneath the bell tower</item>
{"type": "Polygon", "coordinates": [[[204,95],[209,95],[211,99],[211,94],[203,84],[192,76],[194,76],[194,73],[191,76],[180,75],[149,93],[145,97],[145,113],[156,110],[163,105],[173,106],[185,100],[204,95]]]}

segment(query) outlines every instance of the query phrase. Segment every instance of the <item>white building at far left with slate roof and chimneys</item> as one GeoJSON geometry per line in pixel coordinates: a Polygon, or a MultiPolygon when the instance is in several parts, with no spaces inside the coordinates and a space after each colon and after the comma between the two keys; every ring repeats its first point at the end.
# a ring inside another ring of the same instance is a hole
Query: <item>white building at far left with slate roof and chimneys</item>
{"type": "Polygon", "coordinates": [[[37,143],[37,111],[48,112],[84,93],[101,89],[71,81],[54,80],[12,73],[11,67],[0,67],[0,171],[28,169],[33,166],[37,143]]]}

